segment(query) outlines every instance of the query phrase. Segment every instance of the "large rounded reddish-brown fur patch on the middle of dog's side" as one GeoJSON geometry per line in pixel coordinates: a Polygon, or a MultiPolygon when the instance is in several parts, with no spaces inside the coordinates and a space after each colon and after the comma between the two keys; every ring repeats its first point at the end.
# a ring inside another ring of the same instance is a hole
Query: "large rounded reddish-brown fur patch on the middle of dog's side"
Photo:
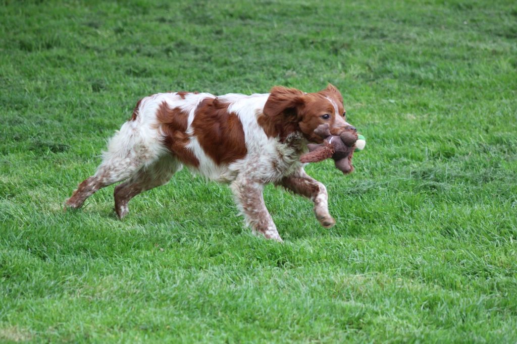
{"type": "Polygon", "coordinates": [[[197,106],[192,128],[205,153],[216,164],[242,159],[248,153],[239,117],[228,112],[228,103],[205,98],[197,106]]]}

